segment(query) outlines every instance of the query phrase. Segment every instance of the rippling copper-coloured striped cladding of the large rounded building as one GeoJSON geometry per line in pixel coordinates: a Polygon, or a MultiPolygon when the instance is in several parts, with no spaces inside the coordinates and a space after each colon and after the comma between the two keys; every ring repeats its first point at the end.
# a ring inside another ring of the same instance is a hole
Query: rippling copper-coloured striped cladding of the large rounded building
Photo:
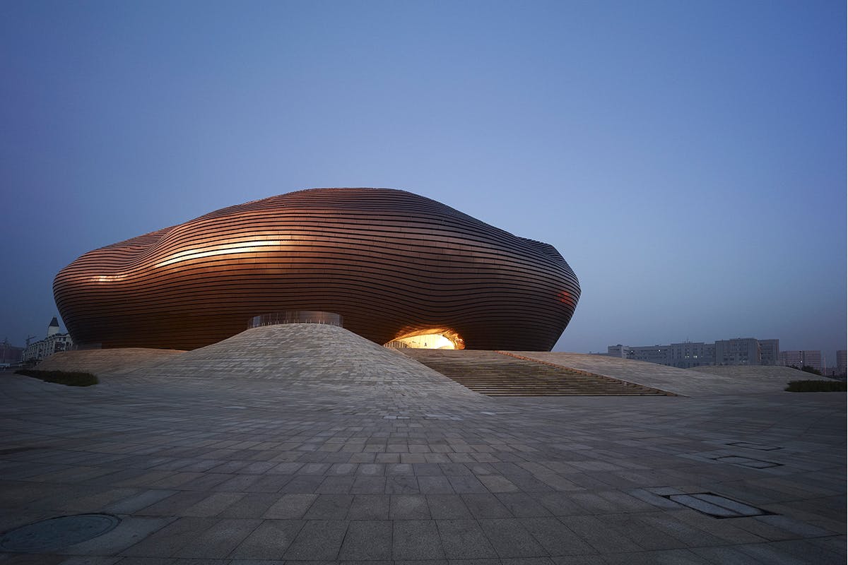
{"type": "Polygon", "coordinates": [[[568,263],[406,191],[318,188],[223,208],[88,252],[53,281],[74,341],[193,349],[265,313],[339,313],[386,343],[453,331],[469,349],[547,351],[580,287],[568,263]]]}

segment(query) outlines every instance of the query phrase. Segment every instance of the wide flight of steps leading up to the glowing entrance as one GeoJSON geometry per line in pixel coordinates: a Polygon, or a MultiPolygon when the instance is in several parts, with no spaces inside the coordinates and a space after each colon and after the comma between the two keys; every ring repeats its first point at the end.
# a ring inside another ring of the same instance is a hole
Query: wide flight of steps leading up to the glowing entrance
{"type": "Polygon", "coordinates": [[[674,396],[509,352],[411,348],[399,351],[471,391],[488,396],[674,396]]]}

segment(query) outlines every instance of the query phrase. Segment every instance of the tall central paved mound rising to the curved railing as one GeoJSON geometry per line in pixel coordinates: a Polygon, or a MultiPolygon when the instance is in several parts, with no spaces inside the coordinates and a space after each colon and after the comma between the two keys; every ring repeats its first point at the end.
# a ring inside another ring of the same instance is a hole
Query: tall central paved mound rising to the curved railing
{"type": "Polygon", "coordinates": [[[416,394],[477,396],[444,375],[327,324],[279,324],[245,330],[128,376],[278,379],[287,385],[343,390],[372,386],[416,394]]]}

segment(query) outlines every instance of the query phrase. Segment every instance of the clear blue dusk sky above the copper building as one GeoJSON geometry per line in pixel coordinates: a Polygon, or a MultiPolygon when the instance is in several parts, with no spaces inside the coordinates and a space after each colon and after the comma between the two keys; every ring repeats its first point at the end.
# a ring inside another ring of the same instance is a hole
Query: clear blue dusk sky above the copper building
{"type": "Polygon", "coordinates": [[[557,351],[845,349],[845,2],[0,4],[0,341],[96,247],[304,188],[555,246],[557,351]]]}

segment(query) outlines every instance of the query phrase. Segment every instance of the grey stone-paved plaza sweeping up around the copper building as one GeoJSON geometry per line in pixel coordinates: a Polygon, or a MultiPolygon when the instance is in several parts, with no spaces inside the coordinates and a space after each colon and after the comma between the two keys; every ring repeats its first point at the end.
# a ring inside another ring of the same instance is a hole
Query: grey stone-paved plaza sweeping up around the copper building
{"type": "Polygon", "coordinates": [[[271,368],[258,345],[86,388],[0,374],[0,532],[120,518],[0,563],[845,562],[843,393],[551,353],[680,396],[492,398],[285,337],[271,368]]]}

